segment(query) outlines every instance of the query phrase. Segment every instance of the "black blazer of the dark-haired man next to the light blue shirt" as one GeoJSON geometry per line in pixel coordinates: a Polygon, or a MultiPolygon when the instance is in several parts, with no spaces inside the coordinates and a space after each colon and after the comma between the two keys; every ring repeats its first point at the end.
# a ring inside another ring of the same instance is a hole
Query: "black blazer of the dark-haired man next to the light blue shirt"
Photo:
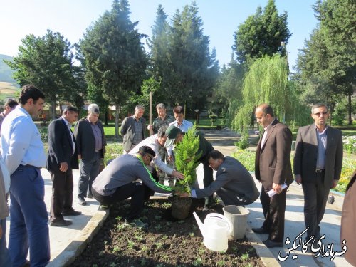
{"type": "Polygon", "coordinates": [[[64,120],[60,117],[57,120],[53,120],[48,125],[48,171],[58,172],[61,162],[67,162],[68,167],[78,169],[77,146],[75,145],[75,152],[73,155],[73,143],[69,129],[64,120]]]}

